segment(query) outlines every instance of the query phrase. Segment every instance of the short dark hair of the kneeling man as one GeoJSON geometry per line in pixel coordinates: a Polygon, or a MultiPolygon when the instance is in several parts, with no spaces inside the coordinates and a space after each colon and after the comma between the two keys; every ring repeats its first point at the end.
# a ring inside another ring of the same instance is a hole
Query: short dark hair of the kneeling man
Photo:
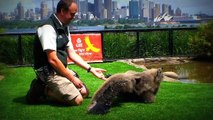
{"type": "Polygon", "coordinates": [[[57,5],[57,13],[61,12],[62,9],[65,11],[69,10],[69,6],[75,2],[74,0],[60,0],[57,5]]]}

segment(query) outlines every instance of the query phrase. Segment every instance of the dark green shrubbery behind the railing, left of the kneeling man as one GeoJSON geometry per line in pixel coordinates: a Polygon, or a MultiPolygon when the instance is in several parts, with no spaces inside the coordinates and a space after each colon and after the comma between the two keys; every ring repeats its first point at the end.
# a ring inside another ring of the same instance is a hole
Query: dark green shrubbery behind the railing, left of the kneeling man
{"type": "Polygon", "coordinates": [[[17,36],[0,37],[0,59],[6,64],[31,64],[32,63],[32,44],[33,36],[22,36],[22,60],[17,36]]]}

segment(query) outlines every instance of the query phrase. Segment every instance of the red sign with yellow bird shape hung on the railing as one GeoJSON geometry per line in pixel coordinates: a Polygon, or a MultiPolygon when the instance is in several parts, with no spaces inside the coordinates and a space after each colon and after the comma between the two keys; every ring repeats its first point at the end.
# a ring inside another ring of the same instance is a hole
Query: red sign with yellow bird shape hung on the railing
{"type": "MultiPolygon", "coordinates": [[[[87,62],[102,62],[102,41],[101,34],[71,34],[73,47],[87,62]]],[[[72,61],[68,59],[68,63],[72,61]]]]}

